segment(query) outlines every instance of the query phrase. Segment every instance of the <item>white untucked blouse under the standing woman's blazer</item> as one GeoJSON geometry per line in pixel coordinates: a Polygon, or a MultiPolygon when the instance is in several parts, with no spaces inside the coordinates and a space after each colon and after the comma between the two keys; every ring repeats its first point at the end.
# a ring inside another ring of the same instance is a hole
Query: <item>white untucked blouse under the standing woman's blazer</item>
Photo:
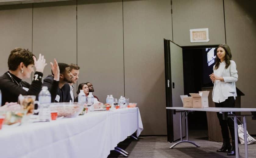
{"type": "MultiPolygon", "coordinates": [[[[216,76],[222,77],[225,66],[226,66],[225,61],[222,61],[222,63],[219,64],[219,68],[217,70],[214,70],[215,71],[214,74],[216,76]]],[[[215,103],[221,103],[228,98],[228,97],[224,97],[222,93],[221,82],[223,81],[215,80],[214,82],[215,87],[213,89],[212,101],[214,101],[215,103]]]]}

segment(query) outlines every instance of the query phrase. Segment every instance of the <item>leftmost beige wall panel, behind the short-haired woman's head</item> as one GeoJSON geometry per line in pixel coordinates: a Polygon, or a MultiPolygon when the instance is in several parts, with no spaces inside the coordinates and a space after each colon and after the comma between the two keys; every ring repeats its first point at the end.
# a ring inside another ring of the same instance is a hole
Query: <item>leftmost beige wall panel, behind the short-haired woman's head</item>
{"type": "MultiPolygon", "coordinates": [[[[8,57],[15,47],[32,51],[32,4],[0,6],[0,75],[8,70],[8,57]]],[[[31,79],[24,80],[31,83],[31,79]]]]}

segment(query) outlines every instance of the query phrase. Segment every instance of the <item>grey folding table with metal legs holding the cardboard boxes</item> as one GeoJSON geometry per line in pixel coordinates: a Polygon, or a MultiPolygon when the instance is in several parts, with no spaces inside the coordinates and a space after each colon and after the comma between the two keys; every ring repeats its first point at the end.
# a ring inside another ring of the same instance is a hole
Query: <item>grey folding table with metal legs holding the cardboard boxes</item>
{"type": "MultiPolygon", "coordinates": [[[[233,117],[234,118],[234,124],[235,124],[235,146],[236,146],[236,151],[238,151],[238,133],[237,133],[237,117],[242,116],[243,120],[244,120],[244,131],[246,133],[247,131],[247,126],[246,126],[246,116],[254,116],[255,118],[255,112],[256,112],[256,108],[183,108],[183,107],[166,107],[166,109],[170,109],[170,110],[174,110],[174,114],[176,112],[180,112],[180,141],[175,143],[174,145],[172,145],[170,147],[170,149],[172,149],[174,146],[178,145],[179,143],[192,143],[197,147],[200,147],[199,145],[197,145],[194,142],[191,142],[188,140],[188,123],[187,123],[187,116],[189,114],[189,112],[192,111],[205,111],[205,112],[222,112],[223,115],[223,119],[227,119],[227,117],[233,117]],[[176,111],[178,110],[178,111],[176,111]],[[185,113],[185,117],[186,117],[186,135],[187,135],[187,140],[183,141],[182,140],[182,112],[185,113]],[[228,112],[252,112],[254,115],[227,115],[228,112]]],[[[244,140],[247,140],[247,135],[244,135],[244,140]]],[[[247,147],[247,141],[244,141],[244,146],[245,146],[245,157],[248,158],[248,147],[247,147]]],[[[239,153],[236,152],[236,158],[239,157],[239,153]]]]}

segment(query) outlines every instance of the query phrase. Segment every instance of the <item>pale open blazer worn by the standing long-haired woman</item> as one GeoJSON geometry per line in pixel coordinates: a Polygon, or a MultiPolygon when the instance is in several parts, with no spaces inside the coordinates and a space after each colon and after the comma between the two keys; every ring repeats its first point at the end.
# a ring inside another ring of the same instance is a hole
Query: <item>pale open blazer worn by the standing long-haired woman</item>
{"type": "MultiPolygon", "coordinates": [[[[215,73],[214,69],[215,65],[213,66],[213,73],[215,73]]],[[[237,96],[236,94],[236,81],[238,80],[238,74],[236,70],[236,63],[233,60],[230,60],[230,65],[228,68],[223,70],[222,76],[224,81],[221,82],[221,90],[224,97],[230,97],[233,94],[234,97],[237,96]]],[[[215,83],[213,86],[212,96],[215,89],[215,83]]]]}

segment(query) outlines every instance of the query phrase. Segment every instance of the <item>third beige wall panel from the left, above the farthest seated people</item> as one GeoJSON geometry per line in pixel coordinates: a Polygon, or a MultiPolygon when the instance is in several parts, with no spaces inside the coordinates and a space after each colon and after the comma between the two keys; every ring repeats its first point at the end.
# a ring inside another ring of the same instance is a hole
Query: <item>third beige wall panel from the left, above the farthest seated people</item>
{"type": "Polygon", "coordinates": [[[122,1],[78,1],[79,84],[92,82],[103,103],[124,94],[122,1]]]}

